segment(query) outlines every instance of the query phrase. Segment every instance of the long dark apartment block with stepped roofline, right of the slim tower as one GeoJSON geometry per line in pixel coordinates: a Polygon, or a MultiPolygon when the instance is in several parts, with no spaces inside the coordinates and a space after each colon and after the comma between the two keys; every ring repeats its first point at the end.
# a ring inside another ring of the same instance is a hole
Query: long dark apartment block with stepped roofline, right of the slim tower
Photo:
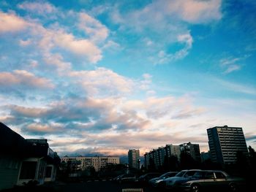
{"type": "Polygon", "coordinates": [[[158,147],[158,149],[151,150],[149,153],[145,153],[144,164],[146,169],[150,165],[151,161],[154,162],[154,166],[159,169],[165,163],[165,157],[170,158],[171,155],[176,156],[178,159],[181,155],[179,145],[165,145],[165,147],[158,147]]]}

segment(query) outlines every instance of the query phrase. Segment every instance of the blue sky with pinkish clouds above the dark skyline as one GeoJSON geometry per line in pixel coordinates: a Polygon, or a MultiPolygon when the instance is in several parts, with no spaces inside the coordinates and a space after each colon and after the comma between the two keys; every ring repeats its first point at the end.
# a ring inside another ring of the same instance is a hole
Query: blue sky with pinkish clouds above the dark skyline
{"type": "Polygon", "coordinates": [[[140,155],[242,127],[256,148],[255,0],[0,1],[0,121],[59,155],[140,155]]]}

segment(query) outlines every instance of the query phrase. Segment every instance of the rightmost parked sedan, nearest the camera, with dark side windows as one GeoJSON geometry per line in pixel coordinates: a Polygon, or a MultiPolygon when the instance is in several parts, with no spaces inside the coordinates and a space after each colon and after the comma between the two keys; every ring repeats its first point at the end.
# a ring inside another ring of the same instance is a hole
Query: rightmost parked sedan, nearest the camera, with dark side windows
{"type": "Polygon", "coordinates": [[[245,180],[241,177],[231,177],[226,172],[207,170],[197,172],[192,180],[176,183],[183,191],[239,191],[245,187],[245,180]]]}

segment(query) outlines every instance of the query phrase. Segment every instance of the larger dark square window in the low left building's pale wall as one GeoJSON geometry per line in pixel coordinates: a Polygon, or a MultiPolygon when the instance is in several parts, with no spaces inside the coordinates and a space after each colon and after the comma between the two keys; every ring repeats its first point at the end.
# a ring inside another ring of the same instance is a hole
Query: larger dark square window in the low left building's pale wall
{"type": "Polygon", "coordinates": [[[37,161],[23,161],[20,170],[20,180],[33,180],[36,169],[37,161]]]}

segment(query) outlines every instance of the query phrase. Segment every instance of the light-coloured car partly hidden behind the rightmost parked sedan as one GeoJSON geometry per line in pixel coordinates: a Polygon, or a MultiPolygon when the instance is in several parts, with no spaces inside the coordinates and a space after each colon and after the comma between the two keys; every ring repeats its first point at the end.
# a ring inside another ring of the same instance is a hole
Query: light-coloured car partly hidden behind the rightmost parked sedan
{"type": "Polygon", "coordinates": [[[181,181],[185,182],[188,180],[191,180],[192,176],[196,172],[201,172],[200,169],[190,169],[190,170],[182,170],[181,172],[178,172],[178,174],[175,175],[175,177],[169,177],[162,182],[159,183],[159,186],[162,188],[170,189],[170,188],[176,188],[176,183],[181,183],[181,181]]]}

